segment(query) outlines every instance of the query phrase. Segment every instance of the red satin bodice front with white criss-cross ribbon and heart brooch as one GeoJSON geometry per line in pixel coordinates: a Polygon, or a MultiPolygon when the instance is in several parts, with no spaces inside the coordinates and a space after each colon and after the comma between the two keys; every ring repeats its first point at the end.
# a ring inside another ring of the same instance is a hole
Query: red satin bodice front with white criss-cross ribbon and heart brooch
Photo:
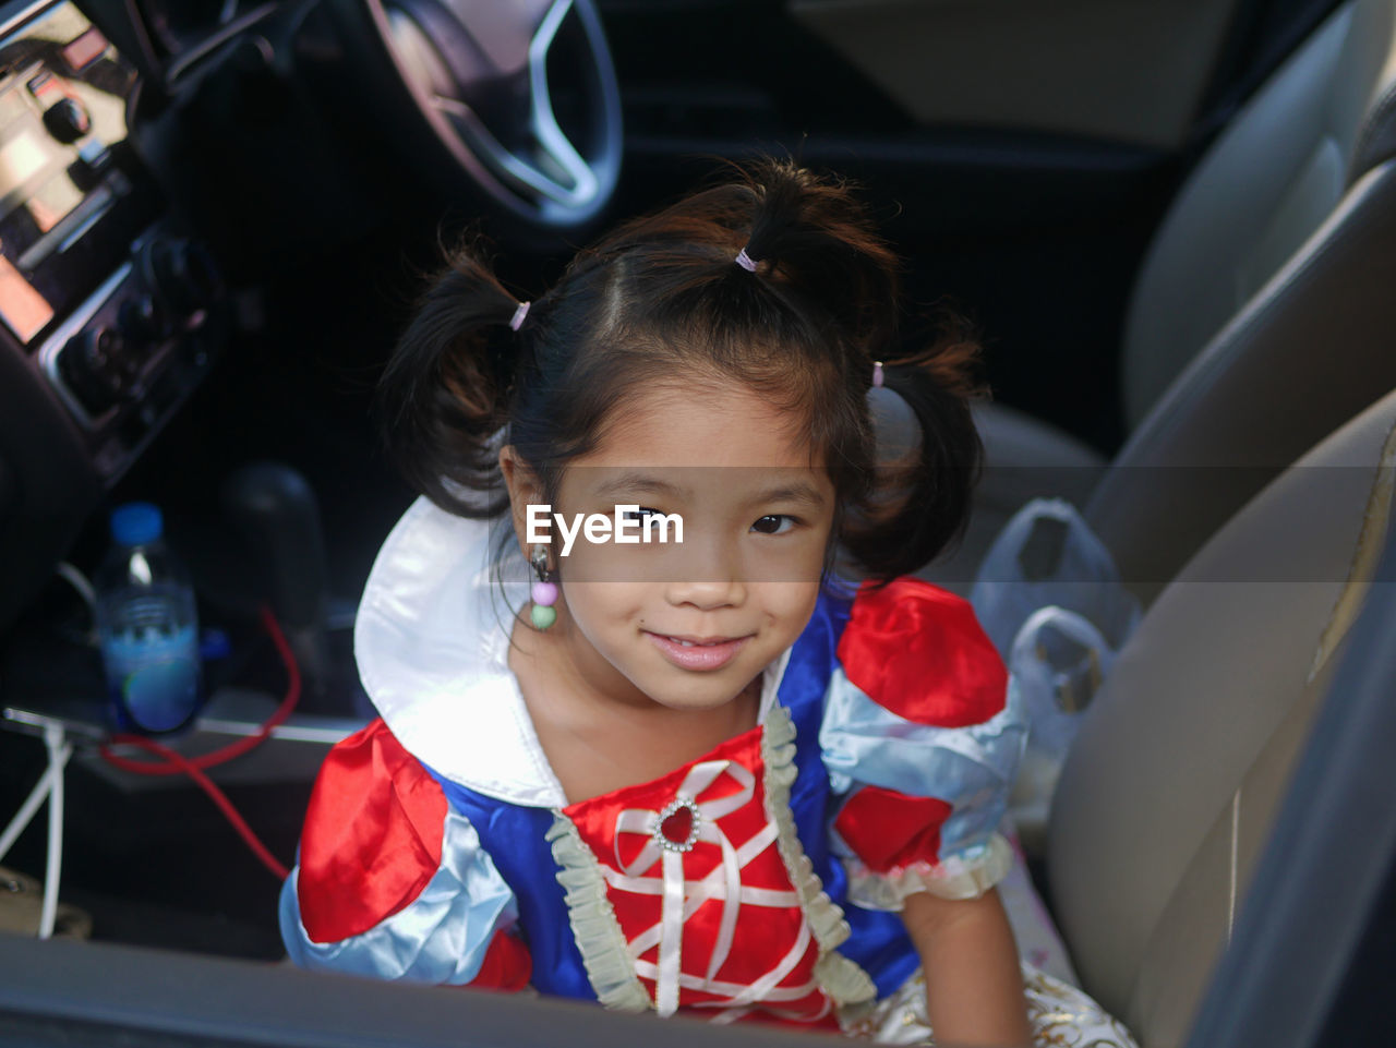
{"type": "MultiPolygon", "coordinates": [[[[829,1015],[819,952],[766,807],[762,728],[651,783],[570,805],[662,1013],[829,1015]]],[[[754,1016],[757,1017],[757,1016],[754,1016]]]]}

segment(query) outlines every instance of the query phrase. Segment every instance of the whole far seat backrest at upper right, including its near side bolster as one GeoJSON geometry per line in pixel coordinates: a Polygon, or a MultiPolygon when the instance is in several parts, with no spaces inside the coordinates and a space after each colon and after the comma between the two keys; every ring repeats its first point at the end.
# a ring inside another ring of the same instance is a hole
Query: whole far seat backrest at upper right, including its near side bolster
{"type": "Polygon", "coordinates": [[[1396,0],[1350,0],[1178,193],[1125,324],[1132,433],[1086,509],[1145,599],[1270,476],[1396,387],[1393,158],[1396,0]],[[1177,469],[1194,466],[1235,469],[1199,484],[1177,469]]]}

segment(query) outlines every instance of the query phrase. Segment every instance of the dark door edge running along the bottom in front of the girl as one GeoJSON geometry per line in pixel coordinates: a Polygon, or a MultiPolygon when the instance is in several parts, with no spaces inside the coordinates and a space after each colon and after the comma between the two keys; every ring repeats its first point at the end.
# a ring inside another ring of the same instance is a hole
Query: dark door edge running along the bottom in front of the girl
{"type": "Polygon", "coordinates": [[[137,1048],[829,1048],[828,1034],[0,935],[0,1042],[137,1048]],[[663,1026],[656,1026],[662,1023],[663,1026]]]}

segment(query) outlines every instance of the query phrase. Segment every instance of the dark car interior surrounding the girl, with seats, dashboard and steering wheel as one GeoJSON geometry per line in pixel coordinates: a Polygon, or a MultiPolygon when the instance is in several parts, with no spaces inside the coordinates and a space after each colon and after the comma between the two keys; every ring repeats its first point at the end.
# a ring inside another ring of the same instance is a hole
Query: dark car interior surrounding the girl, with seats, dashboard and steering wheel
{"type": "MultiPolygon", "coordinates": [[[[159,504],[211,696],[172,744],[267,735],[208,774],[289,864],[327,748],[373,716],[355,604],[412,500],[373,388],[443,246],[486,237],[530,297],[765,154],[860,184],[907,340],[952,311],[984,346],[974,514],[920,574],[969,592],[1061,497],[1143,608],[1026,867],[1081,987],[1143,1048],[1379,1042],[1392,0],[0,4],[0,822],[61,783],[0,832],[0,1041],[652,1035],[283,964],[279,883],[208,797],[103,758],[82,585],[110,509],[159,504]]],[[[879,438],[912,426],[893,403],[879,438]]]]}

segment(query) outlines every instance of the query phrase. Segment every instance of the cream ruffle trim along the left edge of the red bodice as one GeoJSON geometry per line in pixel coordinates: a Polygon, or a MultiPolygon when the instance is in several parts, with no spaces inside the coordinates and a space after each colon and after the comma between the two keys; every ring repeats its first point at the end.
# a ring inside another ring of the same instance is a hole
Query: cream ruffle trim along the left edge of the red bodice
{"type": "Polygon", "coordinates": [[[553,812],[546,840],[553,846],[567,921],[596,999],[614,1012],[651,1010],[655,1002],[635,975],[630,946],[606,897],[606,879],[596,857],[571,821],[558,811],[553,812]]]}

